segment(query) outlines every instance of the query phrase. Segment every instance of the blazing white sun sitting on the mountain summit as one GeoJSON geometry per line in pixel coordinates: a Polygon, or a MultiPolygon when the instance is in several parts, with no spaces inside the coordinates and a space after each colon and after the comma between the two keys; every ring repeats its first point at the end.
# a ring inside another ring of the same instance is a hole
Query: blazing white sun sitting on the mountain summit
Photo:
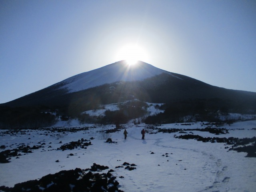
{"type": "Polygon", "coordinates": [[[116,54],[116,61],[126,60],[127,64],[134,65],[140,61],[147,61],[145,50],[136,44],[127,44],[120,48],[116,54]]]}

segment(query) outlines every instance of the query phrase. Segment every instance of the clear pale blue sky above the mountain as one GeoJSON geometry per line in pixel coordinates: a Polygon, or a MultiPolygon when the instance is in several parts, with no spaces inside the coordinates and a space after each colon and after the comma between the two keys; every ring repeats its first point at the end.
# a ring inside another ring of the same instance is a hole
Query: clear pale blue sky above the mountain
{"type": "Polygon", "coordinates": [[[1,0],[0,103],[133,49],[157,68],[256,92],[256,1],[1,0]]]}

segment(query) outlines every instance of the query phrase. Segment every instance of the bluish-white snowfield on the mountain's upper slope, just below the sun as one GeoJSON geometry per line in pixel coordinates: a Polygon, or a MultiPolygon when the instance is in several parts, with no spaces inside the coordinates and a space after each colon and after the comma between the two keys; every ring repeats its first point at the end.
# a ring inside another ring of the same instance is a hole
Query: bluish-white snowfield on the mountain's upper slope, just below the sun
{"type": "Polygon", "coordinates": [[[63,80],[60,84],[64,84],[64,86],[60,88],[67,88],[69,92],[77,92],[118,81],[144,80],[162,73],[174,76],[170,72],[156,68],[142,61],[132,66],[128,65],[126,61],[119,61],[63,80]]]}

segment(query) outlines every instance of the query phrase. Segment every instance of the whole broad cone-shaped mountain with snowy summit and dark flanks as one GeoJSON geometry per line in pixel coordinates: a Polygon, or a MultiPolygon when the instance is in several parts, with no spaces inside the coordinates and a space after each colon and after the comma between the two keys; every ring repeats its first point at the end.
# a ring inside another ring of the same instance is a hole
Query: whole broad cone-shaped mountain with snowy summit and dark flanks
{"type": "MultiPolygon", "coordinates": [[[[129,66],[125,61],[115,62],[102,68],[84,72],[58,82],[52,86],[28,94],[16,100],[0,104],[1,114],[6,108],[19,108],[27,116],[39,111],[57,110],[62,116],[76,118],[87,110],[102,108],[104,104],[137,100],[140,102],[162,103],[167,116],[203,113],[204,111],[256,113],[256,93],[230,90],[212,86],[172,72],[156,68],[145,62],[129,66]],[[31,110],[33,108],[33,110],[31,110]],[[179,111],[179,112],[177,112],[179,111]]],[[[136,103],[142,107],[145,104],[136,103]]],[[[133,105],[134,106],[134,105],[133,105]]],[[[133,116],[139,108],[127,106],[120,114],[133,116]]],[[[13,110],[9,113],[14,113],[13,110]]],[[[42,114],[40,114],[42,116],[42,114]]],[[[106,120],[107,121],[107,120],[106,120]]]]}

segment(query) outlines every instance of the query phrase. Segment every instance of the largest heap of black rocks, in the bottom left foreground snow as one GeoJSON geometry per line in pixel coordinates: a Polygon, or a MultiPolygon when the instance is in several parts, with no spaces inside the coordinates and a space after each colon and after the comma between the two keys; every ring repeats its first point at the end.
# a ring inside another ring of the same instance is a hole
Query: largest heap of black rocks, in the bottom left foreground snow
{"type": "MultiPolygon", "coordinates": [[[[120,177],[124,178],[124,177],[120,177]]],[[[84,192],[123,192],[118,189],[119,182],[110,172],[107,174],[92,173],[76,168],[48,174],[39,180],[30,180],[14,185],[13,188],[0,186],[2,192],[34,191],[84,191],[84,192]]]]}

